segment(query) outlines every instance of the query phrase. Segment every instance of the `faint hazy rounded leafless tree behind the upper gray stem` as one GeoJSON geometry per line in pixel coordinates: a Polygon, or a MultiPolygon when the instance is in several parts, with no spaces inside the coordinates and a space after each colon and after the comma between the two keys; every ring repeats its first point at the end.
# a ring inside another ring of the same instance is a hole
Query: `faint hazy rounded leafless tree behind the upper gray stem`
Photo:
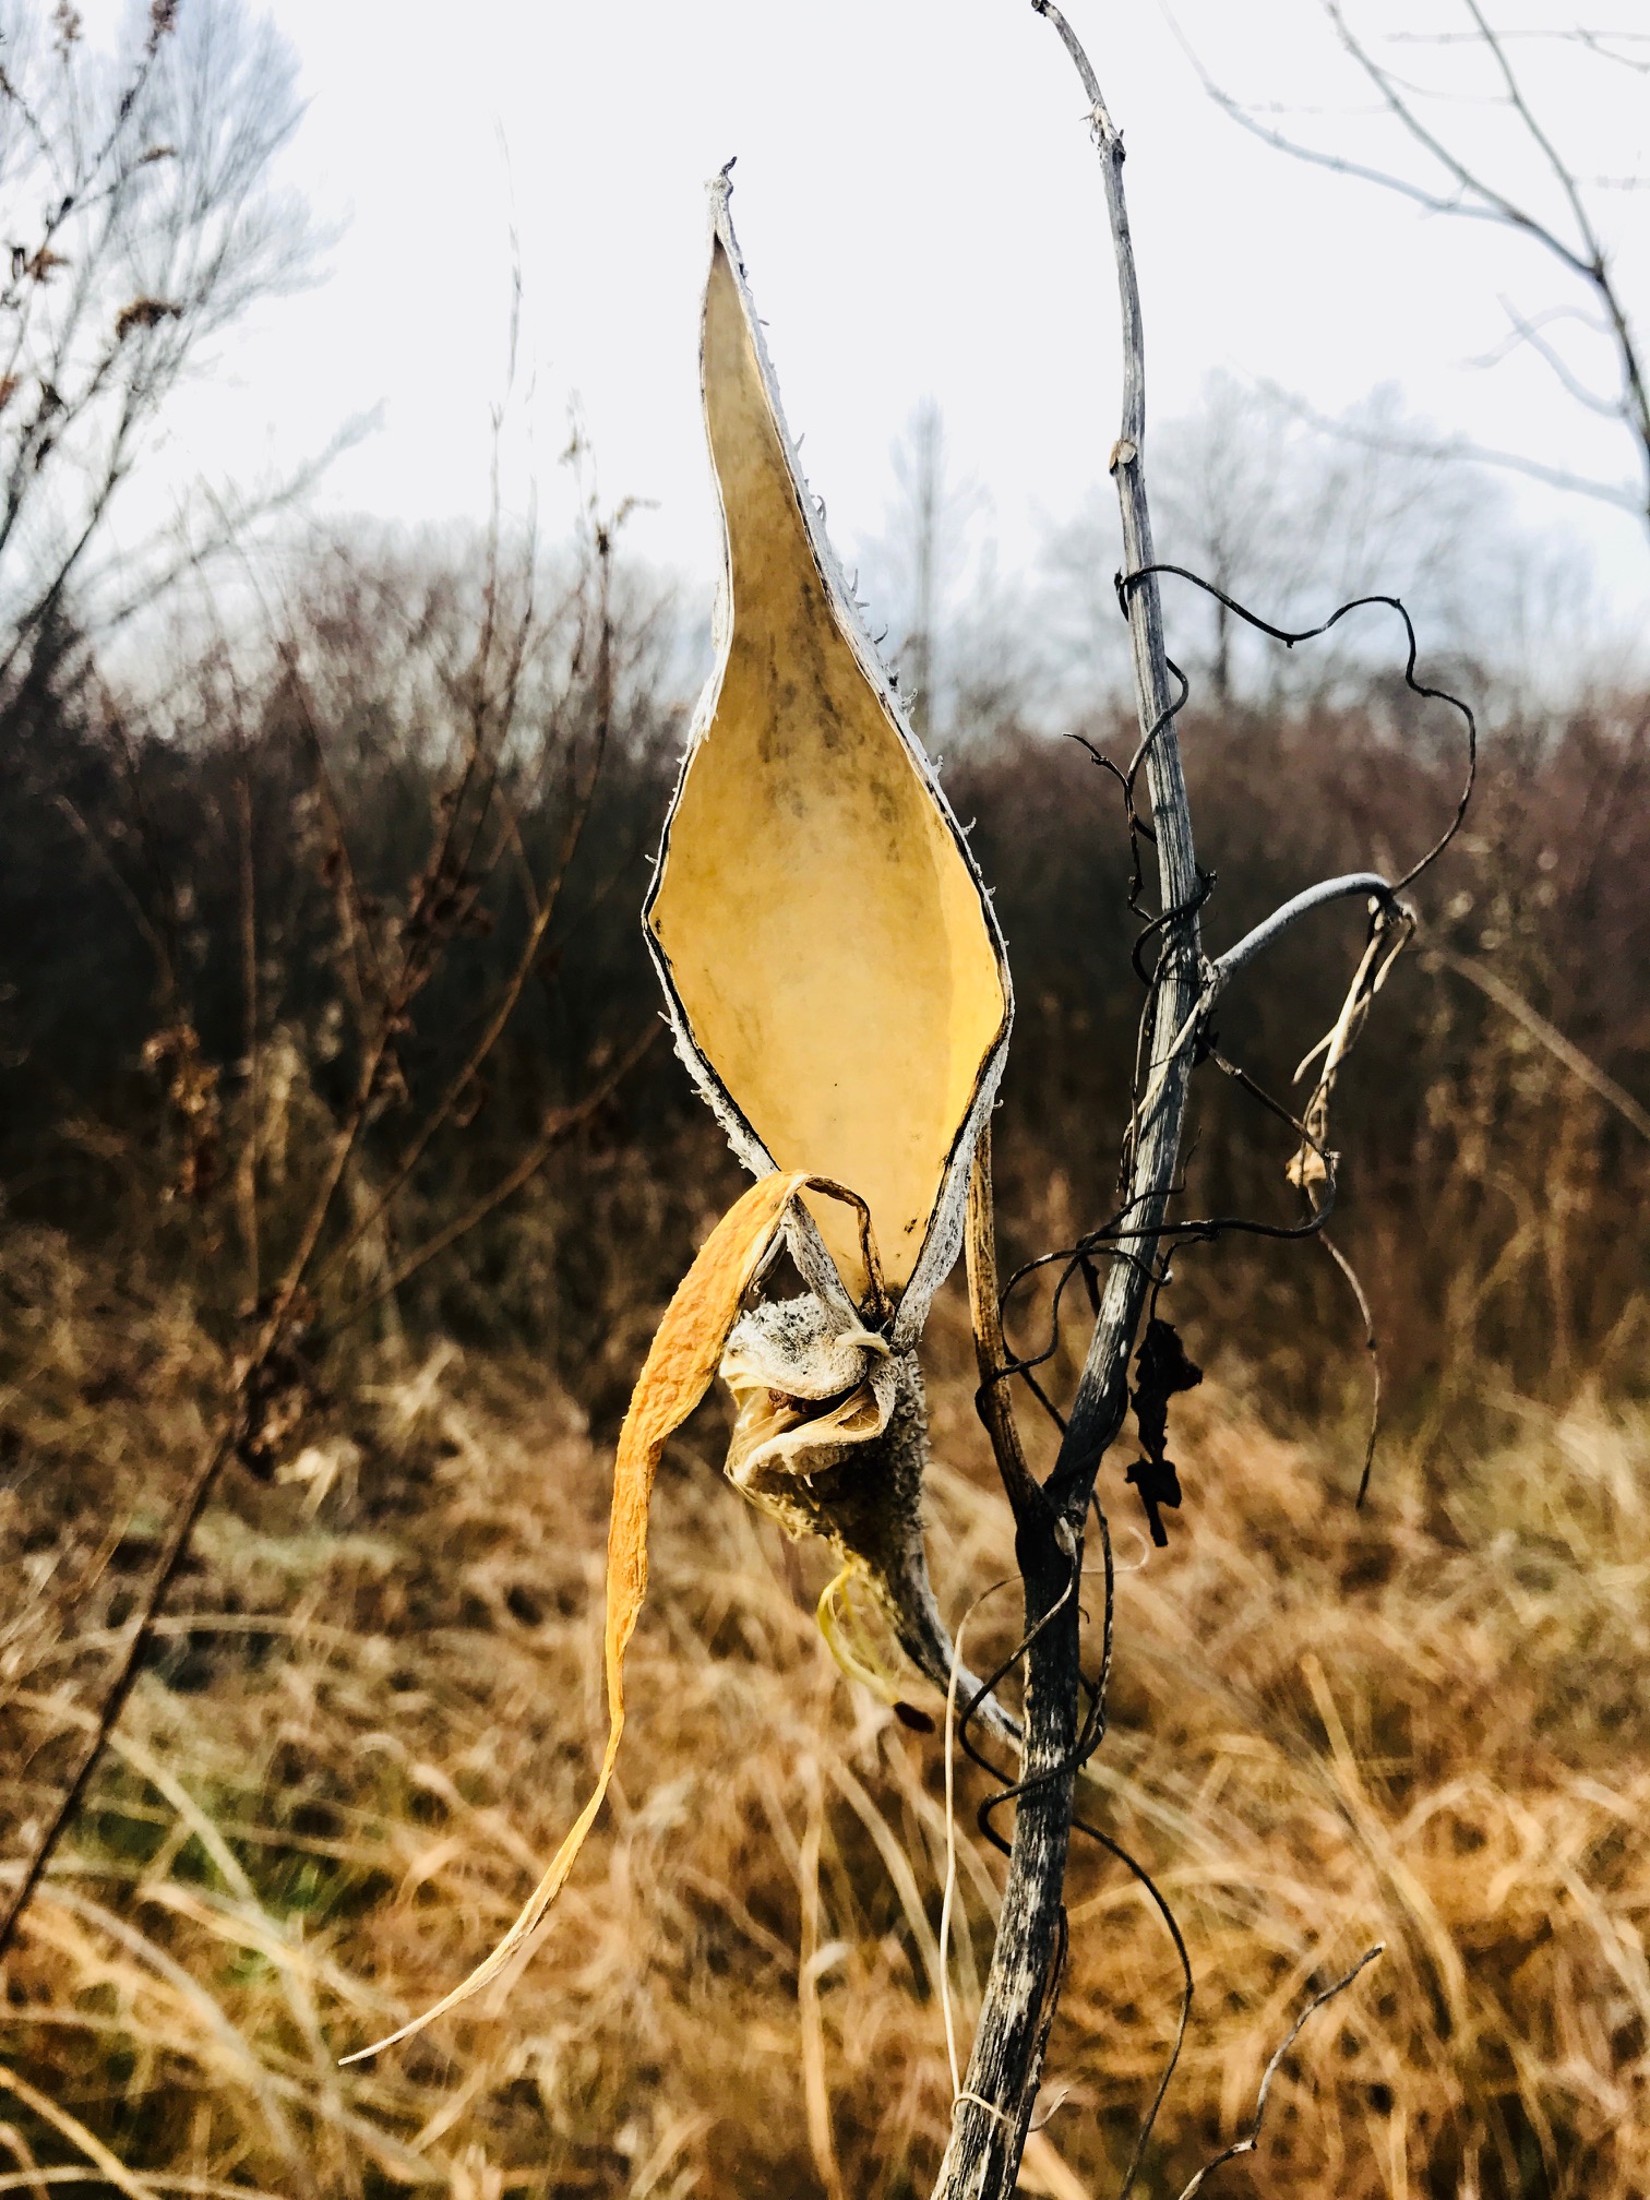
{"type": "MultiPolygon", "coordinates": [[[[1285,389],[1212,374],[1201,403],[1155,438],[1164,554],[1289,625],[1338,601],[1390,590],[1417,607],[1430,660],[1470,667],[1507,706],[1558,706],[1588,662],[1591,579],[1562,539],[1518,526],[1503,484],[1450,466],[1399,392],[1379,387],[1320,420],[1285,389]]],[[[1118,519],[1102,493],[1047,543],[1047,616],[1063,638],[1069,706],[1122,686],[1111,572],[1118,519]]],[[[1327,647],[1278,651],[1219,596],[1175,605],[1177,656],[1219,706],[1362,700],[1388,662],[1377,620],[1327,647]]]]}

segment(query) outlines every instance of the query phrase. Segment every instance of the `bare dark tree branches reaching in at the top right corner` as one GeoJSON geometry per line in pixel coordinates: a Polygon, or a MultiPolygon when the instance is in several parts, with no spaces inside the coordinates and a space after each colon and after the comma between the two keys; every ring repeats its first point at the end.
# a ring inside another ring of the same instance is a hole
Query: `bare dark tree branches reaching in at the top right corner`
{"type": "MultiPolygon", "coordinates": [[[[1531,70],[1514,55],[1518,33],[1498,26],[1483,0],[1461,0],[1459,22],[1404,40],[1410,51],[1448,51],[1452,62],[1476,62],[1478,99],[1505,110],[1516,130],[1509,150],[1496,161],[1481,161],[1463,150],[1463,130],[1452,125],[1450,90],[1439,84],[1417,84],[1408,62],[1393,57],[1397,35],[1382,40],[1382,51],[1353,22],[1344,0],[1320,0],[1322,11],[1344,55],[1375,90],[1379,112],[1388,119],[1397,152],[1408,152],[1408,165],[1375,165],[1346,152],[1307,143],[1280,130],[1267,110],[1236,99],[1225,86],[1203,73],[1203,84],[1217,103],[1245,130],[1280,152],[1355,176],[1406,198],[1426,213],[1467,222],[1489,222],[1522,238],[1562,275],[1564,295],[1536,312],[1503,299],[1507,339],[1496,356],[1529,348],[1555,376],[1564,396],[1586,411],[1615,422],[1632,449],[1632,473],[1621,480],[1599,480],[1553,466],[1518,451],[1485,449],[1456,442],[1459,455],[1509,466],[1516,473],[1577,491],[1632,513],[1650,530],[1650,361],[1646,359],[1639,317],[1621,279],[1619,257],[1608,242],[1602,200],[1639,191],[1650,176],[1588,176],[1586,152],[1560,145],[1542,121],[1542,101],[1531,90],[1531,70]],[[1441,112],[1443,101],[1443,112],[1441,112]],[[1500,161],[1505,158],[1505,167],[1500,161]],[[1593,339],[1591,370],[1577,365],[1573,348],[1558,341],[1555,330],[1580,328],[1593,339]],[[1604,354],[1602,363],[1597,354],[1604,354]]],[[[1551,33],[1533,33],[1542,44],[1558,42],[1571,55],[1584,55],[1599,81],[1615,73],[1650,73],[1650,46],[1639,31],[1595,31],[1584,24],[1551,33]]],[[[1461,106],[1456,106],[1456,117],[1461,106]]],[[[1386,440],[1386,449],[1415,451],[1412,440],[1386,440]]],[[[1428,449],[1428,447],[1421,447],[1428,449]]],[[[1430,447],[1432,451],[1439,444],[1430,447]]]]}

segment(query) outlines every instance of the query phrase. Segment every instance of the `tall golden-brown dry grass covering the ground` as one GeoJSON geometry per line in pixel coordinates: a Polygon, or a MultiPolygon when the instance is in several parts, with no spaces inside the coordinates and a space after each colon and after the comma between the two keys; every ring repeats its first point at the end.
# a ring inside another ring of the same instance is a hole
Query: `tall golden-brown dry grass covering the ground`
{"type": "MultiPolygon", "coordinates": [[[[957,1615],[1010,1564],[955,1298],[931,1349],[957,1615]]],[[[51,1232],[7,1252],[0,1643],[9,1852],[51,1789],[222,1379],[196,1309],[51,1232]]],[[[1492,1401],[1454,1478],[1186,1401],[1166,1553],[1115,1489],[1113,1725],[1089,1808],[1197,1973],[1142,2189],[1283,2064],[1269,2196],[1650,2187],[1650,1415],[1492,1401]]],[[[378,1342],[286,1478],[235,1476],[7,1967],[0,2191],[906,2196],[950,2110],[937,1736],[838,1676],[821,1569],[719,1483],[702,1415],[656,1503],[614,1800],[493,2004],[337,2057],[451,1984],[572,1817],[603,1731],[607,1459],[526,1357],[378,1342]]],[[[1098,1595],[1098,1584],[1093,1595],[1098,1595]]],[[[970,1650],[1012,1639],[988,1599],[970,1650]]],[[[935,1705],[937,1709],[937,1705],[935,1705]]],[[[959,1773],[964,2037],[999,1863],[959,1773]]],[[[1129,1877],[1078,1852],[1027,2191],[1113,2191],[1175,2031],[1129,1877]]]]}

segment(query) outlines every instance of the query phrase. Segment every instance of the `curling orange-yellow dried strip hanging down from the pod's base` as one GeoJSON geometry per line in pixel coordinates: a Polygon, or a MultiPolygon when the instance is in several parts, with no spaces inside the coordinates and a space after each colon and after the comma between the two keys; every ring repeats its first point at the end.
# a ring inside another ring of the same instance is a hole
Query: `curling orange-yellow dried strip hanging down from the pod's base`
{"type": "Polygon", "coordinates": [[[625,1734],[625,1650],[647,1599],[647,1509],[660,1454],[711,1388],[728,1331],[739,1316],[739,1300],[755,1280],[792,1199],[807,1184],[805,1175],[774,1173],[752,1184],[728,1208],[664,1309],[664,1320],[658,1324],[631,1390],[629,1412],[618,1432],[614,1509],[607,1522],[607,1749],[590,1802],[493,1954],[422,2017],[414,2017],[411,2024],[403,2024],[400,2031],[370,2048],[345,2055],[345,2061],[363,2061],[400,2039],[411,2039],[449,2009],[469,2002],[526,1947],[565,1885],[568,1872],[585,1846],[585,1835],[596,1824],[596,1813],[607,1797],[625,1734]]]}

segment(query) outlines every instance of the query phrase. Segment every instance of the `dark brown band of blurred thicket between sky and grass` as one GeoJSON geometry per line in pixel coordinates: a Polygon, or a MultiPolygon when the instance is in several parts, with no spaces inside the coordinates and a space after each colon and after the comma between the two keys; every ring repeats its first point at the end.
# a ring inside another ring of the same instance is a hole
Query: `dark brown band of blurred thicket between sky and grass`
{"type": "MultiPolygon", "coordinates": [[[[550,1133],[528,1181],[381,1289],[372,1320],[539,1351],[607,1419],[739,1170],[658,1025],[638,926],[686,724],[671,607],[605,546],[532,598],[526,579],[317,552],[279,647],[187,651],[141,711],[73,636],[40,653],[0,724],[0,1173],[15,1219],[119,1243],[246,1320],[348,1111],[374,957],[407,946],[416,904],[429,975],[372,1080],[345,1201],[372,1228],[337,1291],[383,1285],[550,1133]]],[[[1133,748],[1120,711],[1074,730],[1133,748]]],[[[1272,713],[1192,706],[1181,730],[1212,950],[1320,876],[1404,871],[1465,770],[1452,713],[1373,682],[1272,713]]],[[[1032,1258],[1115,1197],[1142,1003],[1129,838],[1115,781],[1047,733],[975,735],[944,785],[1010,942],[999,1214],[1010,1258],[1032,1258]]],[[[1540,1023],[1650,1098],[1648,792],[1648,697],[1487,737],[1465,832],[1335,1093],[1329,1228],[1373,1302],[1388,1399],[1441,1428],[1487,1377],[1566,1390],[1643,1362],[1650,1148],[1540,1023]]],[[[1285,1107],[1362,937],[1357,906],[1331,911],[1221,1003],[1219,1054],[1285,1107]]],[[[1298,1223],[1294,1144],[1210,1065],[1179,1212],[1298,1223]]],[[[1173,1302],[1195,1349],[1263,1368],[1291,1410],[1364,1382],[1349,1285],[1313,1245],[1188,1243],[1173,1302]]],[[[1078,1342],[1080,1283],[1069,1316],[1078,1342]]],[[[1027,1300],[1021,1342],[1036,1320],[1027,1300]]]]}

